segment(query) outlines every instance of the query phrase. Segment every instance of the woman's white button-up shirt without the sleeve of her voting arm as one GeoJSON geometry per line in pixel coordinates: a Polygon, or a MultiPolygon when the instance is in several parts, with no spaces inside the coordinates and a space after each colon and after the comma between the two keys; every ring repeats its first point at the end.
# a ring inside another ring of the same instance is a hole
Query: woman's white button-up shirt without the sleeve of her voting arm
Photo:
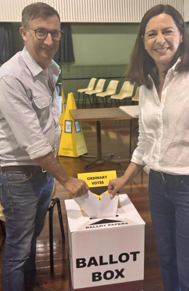
{"type": "MultiPolygon", "coordinates": [[[[140,87],[139,138],[131,162],[189,175],[189,72],[168,70],[159,101],[156,87],[140,87]]],[[[149,75],[149,79],[152,78],[149,75]]]]}

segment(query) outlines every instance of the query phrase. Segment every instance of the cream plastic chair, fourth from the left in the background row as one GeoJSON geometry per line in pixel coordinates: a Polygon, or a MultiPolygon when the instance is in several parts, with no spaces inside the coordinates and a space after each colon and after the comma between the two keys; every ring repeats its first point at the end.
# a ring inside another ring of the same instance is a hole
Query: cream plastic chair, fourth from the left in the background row
{"type": "MultiPolygon", "coordinates": [[[[118,100],[119,106],[120,106],[121,105],[120,100],[131,99],[133,97],[134,86],[135,85],[134,84],[132,85],[129,81],[125,81],[122,85],[120,93],[117,95],[112,95],[110,97],[112,100],[115,100],[116,106],[118,106],[116,100],[118,100]]],[[[111,107],[111,104],[112,104],[112,102],[110,103],[110,107],[111,107]]]]}

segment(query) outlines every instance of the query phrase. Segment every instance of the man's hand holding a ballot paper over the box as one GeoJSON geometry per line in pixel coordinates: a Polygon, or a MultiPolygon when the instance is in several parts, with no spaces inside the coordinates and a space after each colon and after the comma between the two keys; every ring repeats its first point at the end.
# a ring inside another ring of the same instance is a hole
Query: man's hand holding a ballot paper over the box
{"type": "Polygon", "coordinates": [[[64,183],[64,187],[72,192],[73,197],[79,197],[86,194],[89,190],[88,185],[84,180],[73,178],[68,176],[67,181],[64,183]]]}

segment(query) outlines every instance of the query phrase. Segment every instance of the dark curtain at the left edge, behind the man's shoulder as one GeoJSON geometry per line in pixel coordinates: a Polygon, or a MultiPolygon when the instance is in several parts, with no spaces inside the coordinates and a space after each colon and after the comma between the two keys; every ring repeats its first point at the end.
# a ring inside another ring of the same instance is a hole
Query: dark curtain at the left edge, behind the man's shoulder
{"type": "Polygon", "coordinates": [[[0,63],[5,63],[13,56],[12,25],[0,22],[0,63]]]}

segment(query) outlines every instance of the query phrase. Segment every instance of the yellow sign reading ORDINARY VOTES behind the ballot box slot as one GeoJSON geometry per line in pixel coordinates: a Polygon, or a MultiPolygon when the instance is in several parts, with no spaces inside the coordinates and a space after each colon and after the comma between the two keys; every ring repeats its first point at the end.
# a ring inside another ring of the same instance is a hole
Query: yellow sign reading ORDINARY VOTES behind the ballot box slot
{"type": "MultiPolygon", "coordinates": [[[[102,193],[108,193],[108,183],[111,179],[117,178],[116,171],[104,171],[93,173],[80,173],[77,174],[79,179],[84,180],[90,191],[101,200],[102,193]]],[[[118,195],[118,194],[116,194],[118,195]]],[[[120,207],[120,201],[118,201],[120,207]]]]}

